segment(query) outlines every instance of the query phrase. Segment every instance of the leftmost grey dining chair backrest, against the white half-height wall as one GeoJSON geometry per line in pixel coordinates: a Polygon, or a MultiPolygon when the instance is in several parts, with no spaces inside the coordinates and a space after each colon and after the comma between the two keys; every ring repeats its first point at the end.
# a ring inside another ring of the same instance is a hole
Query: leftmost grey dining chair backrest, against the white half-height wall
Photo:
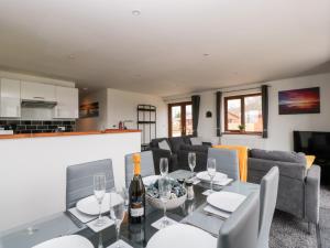
{"type": "Polygon", "coordinates": [[[94,194],[94,175],[98,173],[106,174],[107,191],[114,187],[111,159],[69,165],[66,169],[66,209],[94,194]]]}

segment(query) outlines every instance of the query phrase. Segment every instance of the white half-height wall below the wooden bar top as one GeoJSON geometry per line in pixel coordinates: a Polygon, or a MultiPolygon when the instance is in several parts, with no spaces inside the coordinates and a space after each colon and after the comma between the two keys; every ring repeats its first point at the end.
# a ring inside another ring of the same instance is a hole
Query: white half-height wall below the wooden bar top
{"type": "Polygon", "coordinates": [[[140,144],[139,132],[0,140],[0,233],[65,211],[68,165],[110,158],[123,186],[124,155],[140,144]]]}

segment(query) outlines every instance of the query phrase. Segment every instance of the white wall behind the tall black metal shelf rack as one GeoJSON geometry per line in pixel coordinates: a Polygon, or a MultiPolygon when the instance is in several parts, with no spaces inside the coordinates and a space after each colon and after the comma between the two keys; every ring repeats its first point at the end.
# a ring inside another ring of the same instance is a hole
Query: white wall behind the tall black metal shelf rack
{"type": "Polygon", "coordinates": [[[119,121],[133,120],[127,123],[128,128],[136,129],[138,105],[154,105],[157,107],[157,137],[167,137],[167,105],[158,96],[108,89],[108,127],[116,126],[119,121]]]}

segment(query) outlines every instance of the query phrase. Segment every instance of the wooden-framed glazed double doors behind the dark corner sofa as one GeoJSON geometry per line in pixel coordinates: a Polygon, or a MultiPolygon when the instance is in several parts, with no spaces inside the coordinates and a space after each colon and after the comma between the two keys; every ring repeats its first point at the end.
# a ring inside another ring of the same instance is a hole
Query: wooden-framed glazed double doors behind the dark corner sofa
{"type": "Polygon", "coordinates": [[[193,134],[191,103],[168,105],[168,136],[180,137],[193,134]]]}

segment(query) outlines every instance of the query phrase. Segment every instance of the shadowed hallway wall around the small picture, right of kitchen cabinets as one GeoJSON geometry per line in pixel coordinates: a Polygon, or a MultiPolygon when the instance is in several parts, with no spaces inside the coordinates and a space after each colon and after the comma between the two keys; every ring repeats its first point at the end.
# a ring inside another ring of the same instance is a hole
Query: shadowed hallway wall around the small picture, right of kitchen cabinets
{"type": "Polygon", "coordinates": [[[105,130],[111,128],[107,125],[107,109],[108,109],[108,96],[107,89],[101,89],[95,93],[90,93],[79,98],[79,105],[99,103],[99,116],[90,118],[80,118],[77,120],[76,129],[78,131],[92,131],[92,130],[105,130]]]}

